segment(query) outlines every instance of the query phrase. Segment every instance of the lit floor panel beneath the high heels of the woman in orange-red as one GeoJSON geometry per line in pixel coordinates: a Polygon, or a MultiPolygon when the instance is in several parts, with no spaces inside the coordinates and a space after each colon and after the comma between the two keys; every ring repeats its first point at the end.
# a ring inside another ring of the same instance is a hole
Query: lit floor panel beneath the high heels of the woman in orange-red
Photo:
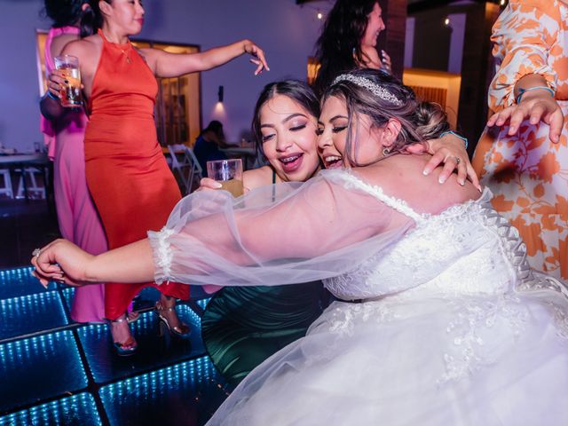
{"type": "Polygon", "coordinates": [[[80,327],[77,332],[95,382],[105,383],[203,355],[205,349],[201,342],[201,319],[185,305],[177,306],[177,313],[192,327],[189,339],[178,339],[170,335],[159,337],[156,315],[154,312],[144,312],[138,321],[130,325],[139,346],[138,352],[130,357],[119,357],[114,353],[106,325],[80,327]]]}

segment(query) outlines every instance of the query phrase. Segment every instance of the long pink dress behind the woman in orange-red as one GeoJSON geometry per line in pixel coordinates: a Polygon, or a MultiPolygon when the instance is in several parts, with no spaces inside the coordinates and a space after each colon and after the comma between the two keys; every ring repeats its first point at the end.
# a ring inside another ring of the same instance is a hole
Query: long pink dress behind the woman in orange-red
{"type": "MultiPolygon", "coordinates": [[[[51,58],[51,41],[62,34],[79,34],[79,28],[51,28],[45,41],[45,72],[55,67],[51,58]]],[[[83,139],[87,116],[67,113],[57,122],[41,117],[41,130],[48,154],[53,161],[53,186],[59,230],[64,238],[96,255],[107,250],[106,236],[97,209],[91,200],[85,178],[83,139]]],[[[105,319],[103,284],[75,288],[71,318],[77,322],[105,319]]]]}

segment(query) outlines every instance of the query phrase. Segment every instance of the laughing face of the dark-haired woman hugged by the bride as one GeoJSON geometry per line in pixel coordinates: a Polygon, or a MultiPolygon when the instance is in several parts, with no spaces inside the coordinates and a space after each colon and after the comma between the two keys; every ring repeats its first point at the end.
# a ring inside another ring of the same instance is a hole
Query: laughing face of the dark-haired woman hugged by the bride
{"type": "Polygon", "coordinates": [[[319,170],[316,117],[276,95],[260,109],[264,156],[284,182],[304,182],[319,170]]]}

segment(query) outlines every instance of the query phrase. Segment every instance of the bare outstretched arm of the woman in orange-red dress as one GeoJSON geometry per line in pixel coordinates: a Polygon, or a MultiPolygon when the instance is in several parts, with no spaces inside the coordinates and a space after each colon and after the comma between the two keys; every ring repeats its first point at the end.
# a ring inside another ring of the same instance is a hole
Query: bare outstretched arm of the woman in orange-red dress
{"type": "Polygon", "coordinates": [[[141,50],[148,61],[148,65],[158,77],[176,77],[198,71],[219,67],[243,53],[250,54],[251,62],[256,64],[255,75],[269,70],[264,59],[264,51],[250,40],[242,40],[225,46],[209,49],[200,53],[170,53],[158,49],[141,50]]]}

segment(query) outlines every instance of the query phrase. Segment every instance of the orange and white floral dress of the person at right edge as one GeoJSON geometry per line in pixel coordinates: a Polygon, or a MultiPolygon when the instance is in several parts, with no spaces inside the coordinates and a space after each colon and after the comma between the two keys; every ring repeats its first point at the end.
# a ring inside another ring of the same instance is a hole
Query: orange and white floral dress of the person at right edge
{"type": "MultiPolygon", "coordinates": [[[[546,78],[568,116],[568,1],[511,0],[493,27],[497,74],[489,89],[492,111],[515,104],[514,86],[528,74],[546,78]]],[[[568,280],[568,121],[560,143],[548,125],[523,122],[485,129],[473,165],[494,194],[493,207],[523,236],[533,268],[568,280]]]]}

